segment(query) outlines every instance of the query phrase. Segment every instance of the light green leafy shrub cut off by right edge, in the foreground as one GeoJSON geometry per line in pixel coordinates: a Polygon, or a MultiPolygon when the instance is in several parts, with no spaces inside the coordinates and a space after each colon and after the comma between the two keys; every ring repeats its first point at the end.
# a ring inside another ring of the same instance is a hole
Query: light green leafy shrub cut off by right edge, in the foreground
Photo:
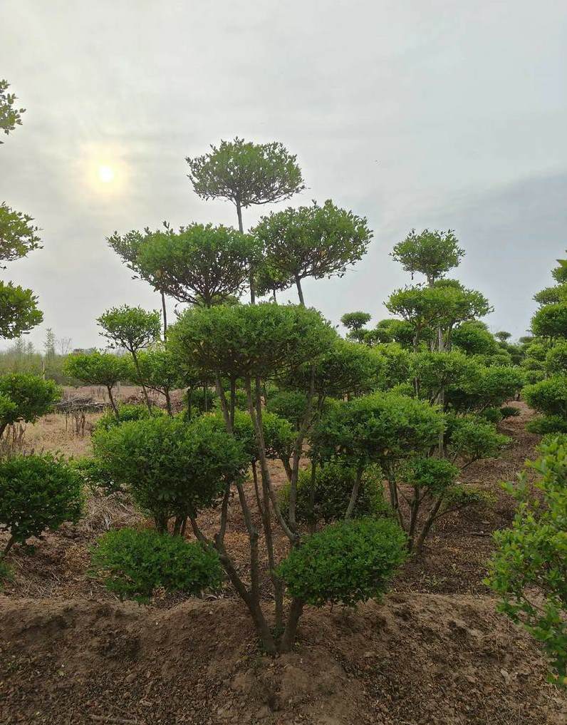
{"type": "Polygon", "coordinates": [[[554,681],[567,686],[567,445],[554,436],[539,453],[505,486],[518,510],[511,528],[494,534],[487,584],[502,597],[500,610],[542,642],[554,681]]]}

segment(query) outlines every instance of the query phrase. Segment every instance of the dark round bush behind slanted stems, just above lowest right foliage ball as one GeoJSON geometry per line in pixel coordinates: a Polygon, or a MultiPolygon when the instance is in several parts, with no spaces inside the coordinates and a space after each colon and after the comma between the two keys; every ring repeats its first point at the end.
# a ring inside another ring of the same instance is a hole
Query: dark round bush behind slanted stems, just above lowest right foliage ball
{"type": "MultiPolygon", "coordinates": [[[[350,494],[356,481],[356,468],[341,461],[330,461],[315,469],[315,491],[311,484],[311,467],[299,472],[295,518],[298,522],[331,523],[344,518],[350,494]]],[[[387,515],[390,509],[384,500],[382,469],[368,465],[364,469],[353,518],[367,515],[387,515]]],[[[290,486],[280,494],[281,506],[289,507],[290,486]]]]}

